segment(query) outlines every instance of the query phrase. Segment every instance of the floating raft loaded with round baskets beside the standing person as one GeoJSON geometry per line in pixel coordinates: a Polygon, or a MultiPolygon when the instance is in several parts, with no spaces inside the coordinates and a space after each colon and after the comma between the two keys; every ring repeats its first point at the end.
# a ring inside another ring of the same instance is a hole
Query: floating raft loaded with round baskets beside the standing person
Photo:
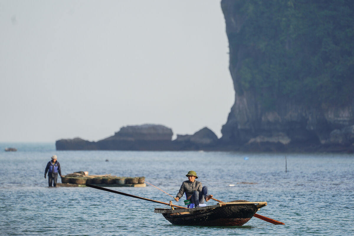
{"type": "MultiPolygon", "coordinates": [[[[86,172],[87,173],[87,172],[86,172]]],[[[63,175],[59,187],[86,187],[85,184],[110,187],[146,187],[145,177],[118,177],[116,175],[88,175],[83,171],[63,175]]]]}

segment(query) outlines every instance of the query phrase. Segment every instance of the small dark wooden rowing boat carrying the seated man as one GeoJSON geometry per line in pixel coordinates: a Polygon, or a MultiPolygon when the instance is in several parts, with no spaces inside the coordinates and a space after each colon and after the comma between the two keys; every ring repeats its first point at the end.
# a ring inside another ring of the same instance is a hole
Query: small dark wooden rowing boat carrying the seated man
{"type": "Polygon", "coordinates": [[[267,202],[238,200],[188,209],[155,208],[154,212],[161,213],[173,225],[241,226],[264,206],[267,202]]]}

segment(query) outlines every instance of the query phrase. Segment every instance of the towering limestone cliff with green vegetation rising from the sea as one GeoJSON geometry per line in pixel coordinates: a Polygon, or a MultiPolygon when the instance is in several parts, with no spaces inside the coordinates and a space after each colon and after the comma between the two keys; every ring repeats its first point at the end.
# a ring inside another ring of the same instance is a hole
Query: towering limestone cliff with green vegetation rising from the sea
{"type": "Polygon", "coordinates": [[[354,143],[354,5],[222,0],[235,102],[230,146],[354,143]]]}

